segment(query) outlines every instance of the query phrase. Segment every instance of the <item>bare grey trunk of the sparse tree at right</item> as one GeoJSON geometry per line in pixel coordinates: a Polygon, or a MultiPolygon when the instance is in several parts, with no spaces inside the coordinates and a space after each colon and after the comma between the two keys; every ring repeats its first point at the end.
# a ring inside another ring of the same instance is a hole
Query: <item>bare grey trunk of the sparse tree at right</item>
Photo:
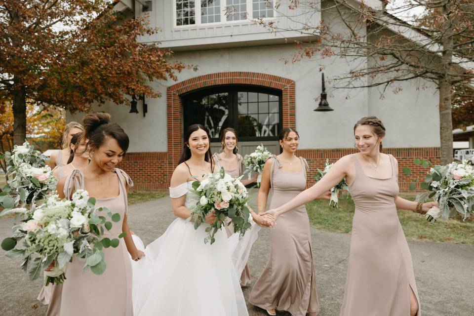
{"type": "Polygon", "coordinates": [[[453,161],[453,119],[451,109],[451,84],[446,79],[439,79],[441,164],[448,164],[453,161]]]}

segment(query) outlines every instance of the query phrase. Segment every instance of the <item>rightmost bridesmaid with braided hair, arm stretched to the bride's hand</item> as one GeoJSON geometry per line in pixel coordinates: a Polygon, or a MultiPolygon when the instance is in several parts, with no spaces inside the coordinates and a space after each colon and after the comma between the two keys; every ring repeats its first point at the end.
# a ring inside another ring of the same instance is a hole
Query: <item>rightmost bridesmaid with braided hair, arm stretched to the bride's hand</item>
{"type": "Polygon", "coordinates": [[[340,315],[421,316],[411,254],[396,210],[426,213],[436,203],[398,197],[398,164],[380,152],[385,126],[378,118],[357,121],[354,137],[358,153],[339,159],[313,187],[266,213],[275,219],[287,216],[346,178],[356,210],[340,315]]]}

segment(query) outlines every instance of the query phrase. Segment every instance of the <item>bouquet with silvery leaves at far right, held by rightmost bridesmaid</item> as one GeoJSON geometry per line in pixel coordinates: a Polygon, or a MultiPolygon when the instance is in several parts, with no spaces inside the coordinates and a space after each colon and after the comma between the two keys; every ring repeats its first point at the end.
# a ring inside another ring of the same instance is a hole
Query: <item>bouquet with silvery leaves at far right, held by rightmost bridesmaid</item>
{"type": "Polygon", "coordinates": [[[473,213],[474,170],[468,160],[435,165],[428,172],[422,188],[428,192],[418,195],[416,201],[433,198],[439,205],[432,207],[425,215],[431,223],[439,217],[448,219],[456,212],[462,214],[465,220],[473,213]]]}

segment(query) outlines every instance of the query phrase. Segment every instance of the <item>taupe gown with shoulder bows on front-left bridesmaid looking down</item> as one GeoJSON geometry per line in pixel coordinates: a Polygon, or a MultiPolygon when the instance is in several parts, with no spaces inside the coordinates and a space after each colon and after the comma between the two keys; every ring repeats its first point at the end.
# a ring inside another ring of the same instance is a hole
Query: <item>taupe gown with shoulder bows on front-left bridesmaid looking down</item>
{"type": "MultiPolygon", "coordinates": [[[[118,223],[112,222],[112,229],[105,230],[103,237],[117,238],[122,233],[122,222],[127,214],[128,202],[125,186],[133,186],[128,175],[116,168],[119,181],[119,194],[116,197],[97,198],[95,206],[107,207],[112,213],[120,214],[118,223]],[[123,177],[126,179],[124,182],[123,177]]],[[[64,185],[67,197],[73,189],[84,189],[84,177],[79,170],[68,176],[64,185]]],[[[97,214],[108,218],[103,211],[97,214]]],[[[73,257],[66,268],[63,283],[60,316],[114,315],[131,316],[132,307],[132,268],[125,241],[120,238],[117,248],[103,248],[107,268],[102,275],[93,274],[90,269],[82,273],[84,259],[73,257]]]]}

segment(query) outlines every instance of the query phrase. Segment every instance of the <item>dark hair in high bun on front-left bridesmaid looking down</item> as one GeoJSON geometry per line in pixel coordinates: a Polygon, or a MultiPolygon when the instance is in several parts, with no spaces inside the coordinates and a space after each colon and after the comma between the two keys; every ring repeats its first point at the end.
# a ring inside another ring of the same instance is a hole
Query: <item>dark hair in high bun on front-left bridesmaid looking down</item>
{"type": "Polygon", "coordinates": [[[117,124],[110,121],[110,114],[108,113],[94,113],[88,114],[82,118],[82,125],[84,125],[84,139],[88,139],[88,148],[97,149],[104,145],[107,138],[114,138],[118,142],[123,152],[128,150],[129,139],[128,135],[117,124]]]}

